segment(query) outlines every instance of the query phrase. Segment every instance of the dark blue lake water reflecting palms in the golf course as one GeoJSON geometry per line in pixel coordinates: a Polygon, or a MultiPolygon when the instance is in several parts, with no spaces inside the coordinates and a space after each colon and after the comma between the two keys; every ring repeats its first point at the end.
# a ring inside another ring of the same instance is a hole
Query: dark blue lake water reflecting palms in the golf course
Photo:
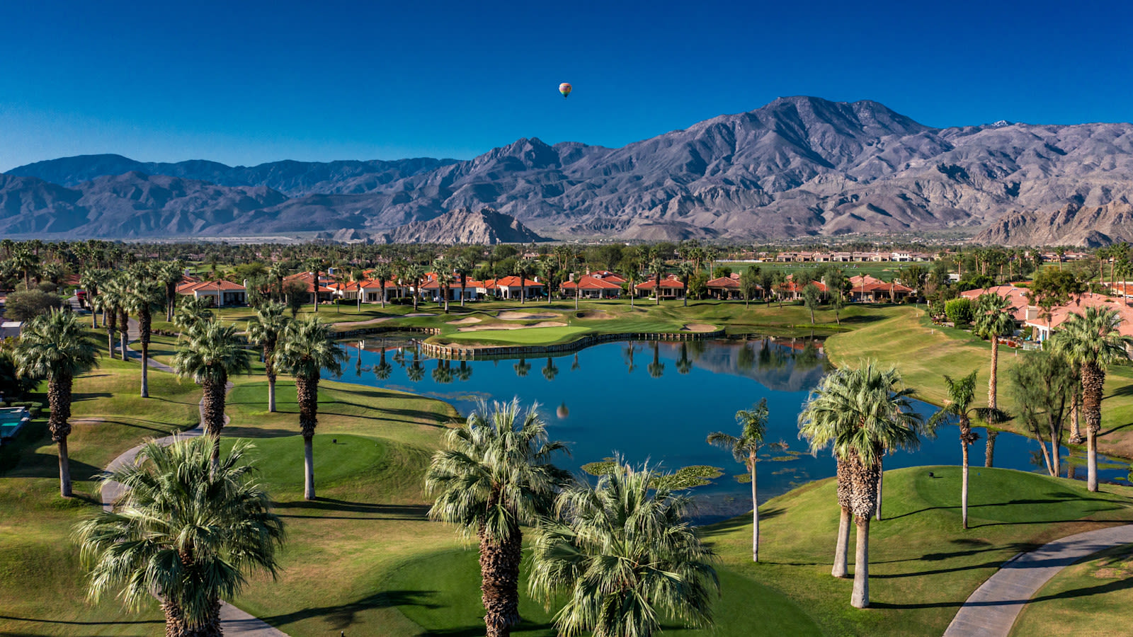
{"type": "MultiPolygon", "coordinates": [[[[551,436],[568,442],[571,457],[560,466],[580,470],[587,462],[621,453],[627,460],[661,464],[667,469],[690,465],[721,467],[724,475],[695,489],[701,521],[749,511],[751,486],[733,476],[744,473],[726,450],[709,447],[714,431],[735,434],[735,411],[767,399],[769,442],[782,441],[787,451],[763,453],[758,470],[760,500],[800,484],[834,475],[829,452],[817,457],[798,436],[798,415],[809,391],[828,371],[820,349],[806,341],[722,340],[674,342],[611,342],[577,354],[552,358],[438,360],[416,355],[408,341],[367,339],[365,349],[347,343],[350,360],[341,376],[351,383],[410,391],[454,405],[461,414],[477,399],[539,404],[551,436]],[[375,375],[382,350],[390,367],[384,380],[375,375]],[[416,363],[415,363],[416,358],[416,363]],[[419,380],[414,380],[419,379],[419,380]],[[792,457],[789,461],[772,458],[792,457]]],[[[917,404],[928,417],[935,407],[917,404]]],[[[971,448],[972,470],[983,465],[986,435],[971,448]],[[979,465],[977,467],[976,465],[979,465]]],[[[1042,472],[1038,442],[1000,433],[995,443],[995,466],[1042,472]]],[[[1062,449],[1065,458],[1067,450],[1062,449]]],[[[898,451],[885,459],[886,468],[915,465],[957,465],[959,430],[938,430],[915,452],[898,451]]],[[[1077,477],[1084,459],[1077,458],[1077,477]]],[[[1109,464],[1099,457],[1099,462],[1109,464]]],[[[1074,464],[1074,459],[1070,464],[1074,464]]],[[[1064,467],[1067,465],[1064,464],[1064,467]]],[[[1102,468],[1102,481],[1123,479],[1128,466],[1102,468]]]]}

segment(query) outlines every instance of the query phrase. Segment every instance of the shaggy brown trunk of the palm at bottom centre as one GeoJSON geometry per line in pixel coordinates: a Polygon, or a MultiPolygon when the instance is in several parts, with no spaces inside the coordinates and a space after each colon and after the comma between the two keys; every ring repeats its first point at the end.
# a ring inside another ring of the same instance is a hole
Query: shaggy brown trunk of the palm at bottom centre
{"type": "Polygon", "coordinates": [[[519,623],[519,564],[522,534],[497,541],[480,533],[480,598],[484,602],[486,637],[508,637],[519,623]]]}

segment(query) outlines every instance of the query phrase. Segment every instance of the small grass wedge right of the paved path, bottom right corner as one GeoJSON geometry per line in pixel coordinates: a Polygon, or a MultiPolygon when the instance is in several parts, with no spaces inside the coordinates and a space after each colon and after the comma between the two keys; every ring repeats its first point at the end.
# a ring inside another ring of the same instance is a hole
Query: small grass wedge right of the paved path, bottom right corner
{"type": "Polygon", "coordinates": [[[1023,606],[1012,635],[1121,635],[1128,630],[1133,544],[1066,567],[1023,606]]]}

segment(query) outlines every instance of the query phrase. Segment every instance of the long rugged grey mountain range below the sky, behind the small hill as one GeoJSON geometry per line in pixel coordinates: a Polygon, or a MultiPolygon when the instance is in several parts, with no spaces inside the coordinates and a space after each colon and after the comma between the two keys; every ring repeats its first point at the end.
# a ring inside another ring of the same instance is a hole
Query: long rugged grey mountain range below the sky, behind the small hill
{"type": "Polygon", "coordinates": [[[1096,245],[1133,240],[1131,201],[1130,124],[934,128],[872,101],[798,96],[621,148],[523,138],[467,161],[49,160],[0,175],[0,232],[412,240],[419,222],[489,207],[553,238],[1096,245]]]}

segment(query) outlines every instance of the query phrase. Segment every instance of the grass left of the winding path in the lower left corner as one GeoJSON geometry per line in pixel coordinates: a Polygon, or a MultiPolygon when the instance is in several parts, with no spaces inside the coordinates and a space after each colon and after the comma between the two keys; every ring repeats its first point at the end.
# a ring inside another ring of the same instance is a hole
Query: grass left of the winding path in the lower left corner
{"type": "MultiPolygon", "coordinates": [[[[96,510],[91,477],[138,441],[197,422],[191,382],[153,374],[155,398],[138,397],[136,364],[102,360],[75,381],[69,436],[75,498],[59,498],[59,465],[46,422],[35,421],[0,452],[0,635],[155,635],[156,604],[128,613],[114,600],[85,601],[71,526],[96,510]]],[[[44,399],[45,400],[45,399],[44,399]]]]}

